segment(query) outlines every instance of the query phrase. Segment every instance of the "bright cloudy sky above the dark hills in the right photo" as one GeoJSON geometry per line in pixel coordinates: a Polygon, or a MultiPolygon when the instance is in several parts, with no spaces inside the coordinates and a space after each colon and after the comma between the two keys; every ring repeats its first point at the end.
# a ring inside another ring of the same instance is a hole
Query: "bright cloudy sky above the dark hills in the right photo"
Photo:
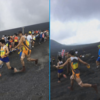
{"type": "Polygon", "coordinates": [[[100,0],[51,0],[51,39],[59,43],[100,41],[100,0]]]}

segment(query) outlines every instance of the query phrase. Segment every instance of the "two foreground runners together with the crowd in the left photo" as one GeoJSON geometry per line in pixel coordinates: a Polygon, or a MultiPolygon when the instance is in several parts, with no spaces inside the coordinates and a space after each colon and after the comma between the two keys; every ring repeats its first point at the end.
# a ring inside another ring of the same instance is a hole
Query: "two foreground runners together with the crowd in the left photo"
{"type": "MultiPolygon", "coordinates": [[[[45,31],[48,33],[48,31],[45,31]]],[[[40,34],[44,34],[43,32],[39,31],[38,34],[32,34],[31,31],[28,34],[23,34],[22,31],[19,31],[18,34],[14,34],[13,36],[3,36],[0,39],[0,65],[6,63],[6,66],[9,70],[17,72],[24,72],[25,71],[25,62],[24,59],[27,57],[28,61],[34,61],[35,64],[38,64],[38,59],[31,58],[31,47],[33,46],[33,40],[36,40],[36,36],[40,37],[40,34]],[[34,39],[35,36],[35,39],[34,39]],[[9,53],[10,51],[19,51],[20,60],[22,64],[22,69],[19,70],[14,68],[10,65],[9,60],[9,53]]],[[[48,35],[46,35],[46,39],[48,39],[48,35]]],[[[39,41],[40,42],[40,41],[39,41]]],[[[1,76],[1,73],[0,73],[1,76]]]]}

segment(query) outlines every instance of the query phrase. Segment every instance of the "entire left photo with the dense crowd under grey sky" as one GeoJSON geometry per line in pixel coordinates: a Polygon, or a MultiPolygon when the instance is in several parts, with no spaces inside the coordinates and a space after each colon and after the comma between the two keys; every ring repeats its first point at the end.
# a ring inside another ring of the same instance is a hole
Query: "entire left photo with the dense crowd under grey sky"
{"type": "Polygon", "coordinates": [[[49,100],[49,0],[0,1],[0,100],[49,100]]]}

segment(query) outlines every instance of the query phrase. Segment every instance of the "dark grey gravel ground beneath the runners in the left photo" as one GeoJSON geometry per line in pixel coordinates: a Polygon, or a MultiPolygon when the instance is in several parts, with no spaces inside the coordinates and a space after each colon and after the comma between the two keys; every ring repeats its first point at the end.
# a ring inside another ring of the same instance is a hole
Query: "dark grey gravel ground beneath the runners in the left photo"
{"type": "MultiPolygon", "coordinates": [[[[49,42],[44,42],[32,49],[34,62],[25,59],[26,71],[14,74],[4,64],[0,69],[0,100],[48,100],[49,99],[49,42]]],[[[9,56],[11,66],[22,68],[17,53],[9,56]]]]}

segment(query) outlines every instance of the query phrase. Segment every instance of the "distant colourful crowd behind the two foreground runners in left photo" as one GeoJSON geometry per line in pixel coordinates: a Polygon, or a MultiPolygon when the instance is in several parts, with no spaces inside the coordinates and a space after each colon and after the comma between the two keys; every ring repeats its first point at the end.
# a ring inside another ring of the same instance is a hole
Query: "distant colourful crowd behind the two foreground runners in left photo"
{"type": "MultiPolygon", "coordinates": [[[[49,31],[34,31],[34,33],[33,31],[29,31],[28,33],[23,34],[23,36],[25,37],[25,39],[29,41],[30,48],[33,48],[35,42],[37,41],[36,39],[38,39],[39,44],[41,44],[42,41],[45,42],[49,39],[49,31]]],[[[12,52],[12,48],[18,45],[20,37],[17,33],[15,33],[10,36],[3,35],[1,39],[5,40],[5,43],[8,46],[9,51],[12,52]]]]}

